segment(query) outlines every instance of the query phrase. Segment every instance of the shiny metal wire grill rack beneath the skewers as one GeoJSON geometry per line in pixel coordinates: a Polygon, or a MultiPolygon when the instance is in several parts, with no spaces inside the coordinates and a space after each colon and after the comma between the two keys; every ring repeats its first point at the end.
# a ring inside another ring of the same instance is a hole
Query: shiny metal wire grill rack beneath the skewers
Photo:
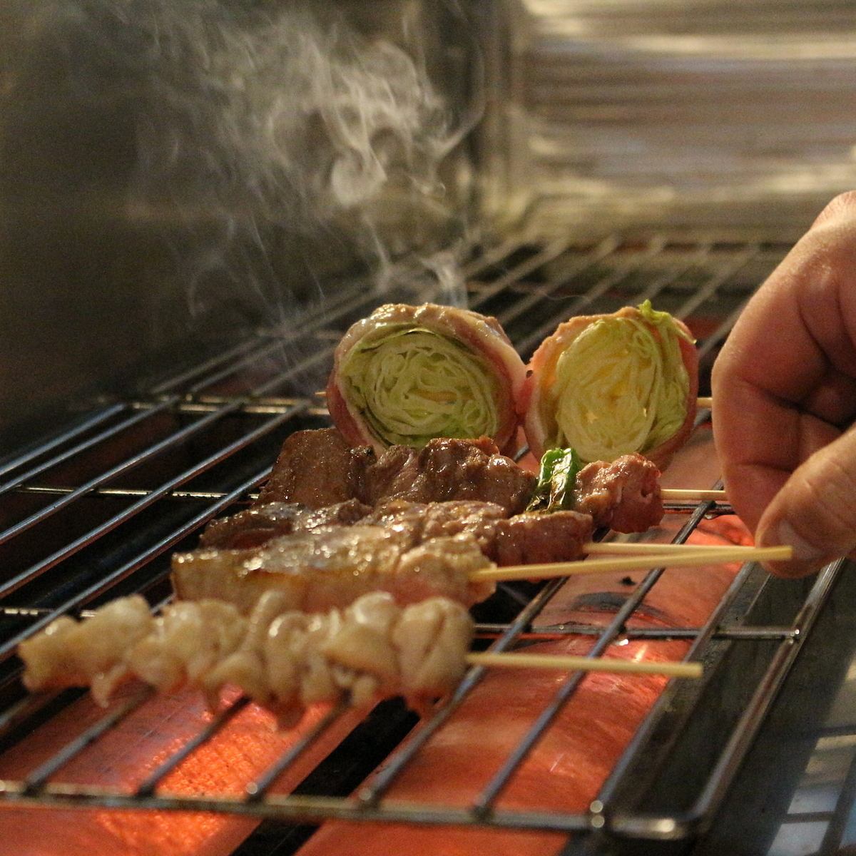
{"type": "MultiPolygon", "coordinates": [[[[701,306],[705,300],[716,298],[719,290],[733,283],[735,276],[746,268],[746,265],[755,263],[764,253],[770,256],[769,261],[775,263],[788,249],[788,241],[775,241],[770,245],[764,243],[763,237],[755,241],[744,241],[739,245],[726,245],[724,252],[717,250],[716,237],[686,235],[647,235],[633,237],[632,239],[622,235],[607,235],[601,241],[592,242],[585,247],[575,247],[571,241],[555,241],[545,247],[532,247],[522,239],[506,241],[494,247],[482,248],[479,253],[474,253],[473,259],[465,265],[463,275],[467,282],[469,306],[476,310],[492,312],[499,318],[503,327],[508,329],[521,321],[526,322],[528,312],[533,307],[543,306],[544,301],[555,300],[556,295],[562,290],[574,288],[574,283],[580,278],[585,278],[586,271],[595,271],[591,282],[585,291],[576,294],[573,299],[561,304],[556,302],[557,311],[545,318],[532,329],[527,329],[523,336],[513,336],[514,344],[526,356],[540,339],[548,335],[556,326],[556,323],[569,315],[581,314],[590,307],[597,306],[604,295],[610,293],[622,282],[629,282],[633,276],[643,276],[647,273],[646,265],[659,265],[657,270],[645,278],[645,286],[640,288],[632,300],[627,302],[639,302],[651,298],[657,300],[662,297],[667,289],[681,282],[681,278],[690,270],[701,271],[700,282],[698,277],[693,280],[693,288],[687,289],[683,300],[678,300],[678,305],[672,307],[674,314],[685,317],[701,306]],[[664,253],[669,252],[669,247],[687,247],[687,252],[678,253],[680,259],[674,264],[662,265],[664,253]],[[629,247],[629,249],[628,249],[629,247]],[[770,249],[772,247],[772,249],[770,249]],[[624,255],[621,255],[624,253],[624,255]],[[775,257],[775,258],[773,258],[775,257]],[[607,263],[601,270],[601,265],[607,263]],[[553,271],[544,279],[544,274],[539,273],[550,270],[551,265],[556,265],[559,272],[553,271]],[[498,272],[497,272],[498,271],[498,272]],[[532,277],[536,281],[532,282],[532,277]],[[538,276],[540,278],[538,278],[538,276]],[[491,300],[502,298],[512,300],[508,307],[502,312],[494,312],[491,300]]],[[[770,265],[770,267],[772,264],[770,265]]],[[[757,284],[758,280],[753,280],[757,284]]],[[[430,288],[429,282],[419,283],[419,301],[431,299],[433,294],[426,289],[430,288]]],[[[728,330],[734,323],[734,319],[740,312],[740,306],[748,299],[752,288],[744,286],[743,291],[738,289],[737,306],[722,319],[710,336],[700,342],[699,351],[702,357],[709,355],[713,348],[722,342],[728,330]]],[[[411,292],[412,294],[413,292],[411,292]]],[[[673,295],[674,296],[674,295],[673,295]]],[[[678,292],[680,297],[680,292],[678,292]]],[[[270,377],[263,383],[256,384],[252,389],[242,392],[241,395],[218,395],[211,393],[216,389],[217,383],[223,382],[231,376],[237,375],[247,366],[258,364],[267,356],[275,353],[280,348],[283,330],[269,330],[257,339],[243,342],[232,348],[226,354],[220,354],[199,366],[193,366],[176,377],[159,384],[151,390],[145,399],[127,401],[123,403],[104,403],[103,406],[94,409],[86,419],[80,420],[74,427],[51,437],[47,442],[37,448],[27,449],[15,457],[0,461],[0,478],[5,479],[0,484],[0,498],[13,493],[45,494],[51,497],[45,507],[38,512],[29,514],[15,524],[8,526],[0,532],[0,544],[13,540],[22,532],[26,532],[33,526],[41,525],[48,520],[52,514],[56,514],[62,508],[66,508],[82,496],[122,496],[130,502],[119,514],[112,516],[109,520],[100,524],[85,536],[74,539],[62,550],[56,550],[50,556],[34,564],[31,568],[20,574],[15,574],[9,580],[0,583],[0,616],[16,617],[27,621],[27,627],[18,633],[12,633],[8,639],[0,641],[0,664],[10,660],[15,647],[23,639],[38,632],[57,615],[80,614],[98,598],[110,592],[120,581],[132,577],[140,568],[146,566],[156,556],[161,556],[183,538],[201,526],[208,520],[223,512],[230,504],[253,496],[253,489],[265,479],[269,467],[255,473],[251,479],[243,479],[235,484],[230,490],[205,491],[205,490],[182,490],[182,486],[192,481],[200,473],[206,472],[211,467],[229,458],[237,450],[245,448],[253,443],[258,437],[282,426],[288,426],[289,422],[298,415],[310,413],[321,416],[325,413],[323,402],[307,395],[298,398],[277,397],[276,389],[288,377],[293,377],[297,372],[307,366],[326,365],[330,362],[332,350],[338,335],[342,330],[336,329],[336,321],[342,318],[355,316],[362,317],[383,300],[407,299],[407,294],[379,294],[372,288],[367,288],[364,282],[354,282],[350,288],[342,289],[335,299],[325,300],[320,306],[310,312],[305,312],[294,325],[305,335],[314,336],[320,347],[316,353],[307,357],[302,362],[288,366],[282,372],[270,377]],[[152,419],[158,413],[183,413],[193,418],[188,425],[175,431],[169,437],[154,443],[148,449],[134,454],[114,467],[100,473],[98,477],[88,479],[82,484],[74,487],[57,487],[56,485],[39,482],[39,477],[49,473],[52,467],[74,460],[78,455],[98,454],[102,443],[109,443],[121,435],[122,431],[128,431],[134,425],[152,419]],[[213,455],[208,455],[198,461],[193,467],[180,473],[175,478],[165,481],[154,490],[132,490],[110,486],[110,481],[128,473],[135,467],[143,466],[154,456],[164,450],[181,443],[187,437],[196,432],[204,431],[206,427],[216,423],[231,414],[241,413],[258,419],[258,424],[246,431],[235,442],[229,443],[213,455]],[[101,426],[104,426],[103,428],[101,426]],[[93,433],[94,432],[94,433],[93,433]],[[45,611],[28,606],[26,603],[9,603],[9,596],[21,591],[29,582],[37,579],[51,568],[68,560],[70,556],[92,544],[107,532],[111,532],[118,526],[122,526],[134,515],[139,514],[146,508],[150,508],[155,502],[190,502],[200,508],[198,514],[188,520],[184,525],[172,532],[167,538],[162,538],[157,544],[150,544],[146,550],[130,562],[115,568],[104,579],[96,584],[86,586],[81,591],[75,591],[72,597],[68,597],[58,608],[45,611]]],[[[673,301],[674,302],[674,301],[673,301]]],[[[549,304],[548,304],[549,305],[549,304]]],[[[617,308],[617,306],[615,306],[617,308]]],[[[709,417],[709,413],[702,413],[701,419],[709,417]]],[[[675,505],[674,510],[690,511],[687,523],[675,537],[676,543],[687,539],[693,529],[698,526],[699,521],[705,516],[729,513],[731,509],[724,503],[704,502],[693,508],[675,505]]],[[[62,782],[49,782],[51,776],[62,770],[72,758],[89,746],[93,740],[114,728],[119,722],[137,710],[146,699],[151,696],[149,691],[141,692],[139,695],[128,699],[122,704],[115,705],[98,722],[86,729],[83,734],[70,741],[60,752],[41,764],[38,769],[32,770],[26,779],[22,781],[5,780],[0,781],[0,805],[30,805],[42,807],[79,807],[88,808],[93,806],[104,806],[114,808],[137,808],[143,810],[158,811],[217,811],[229,812],[237,815],[249,815],[260,818],[276,818],[300,823],[315,823],[328,818],[342,818],[352,821],[395,821],[422,824],[458,824],[461,826],[490,826],[496,828],[514,829],[544,829],[560,830],[563,832],[585,832],[586,830],[608,830],[616,835],[625,835],[630,838],[644,838],[651,840],[675,840],[686,838],[703,828],[704,823],[709,822],[710,817],[716,811],[717,805],[722,801],[723,794],[728,788],[729,782],[734,778],[741,758],[752,737],[756,734],[764,715],[770,708],[775,698],[778,687],[788,674],[788,669],[794,662],[800,645],[806,634],[811,630],[819,610],[822,608],[826,597],[829,595],[836,575],[841,569],[841,563],[836,563],[825,568],[817,578],[817,582],[811,588],[805,603],[794,615],[793,621],[788,625],[775,627],[747,627],[740,621],[729,623],[729,609],[732,608],[740,591],[746,591],[746,586],[755,586],[755,591],[763,582],[758,582],[758,574],[753,574],[753,568],[747,566],[738,574],[734,585],[722,599],[714,615],[704,627],[698,628],[647,628],[639,631],[628,632],[625,628],[627,618],[633,615],[633,611],[642,603],[645,595],[656,585],[657,580],[663,574],[663,568],[651,570],[645,575],[633,593],[627,597],[626,603],[616,612],[609,625],[601,628],[586,626],[563,626],[561,629],[532,627],[532,621],[544,609],[551,598],[562,588],[562,580],[552,580],[532,600],[521,609],[520,614],[504,625],[480,625],[479,630],[484,633],[496,633],[496,640],[490,645],[490,651],[507,651],[520,640],[523,633],[590,633],[593,637],[593,645],[589,651],[589,657],[599,657],[609,645],[619,637],[629,638],[651,638],[651,639],[693,639],[693,646],[688,655],[689,658],[710,657],[708,651],[713,640],[719,640],[728,644],[729,640],[778,640],[776,653],[770,659],[770,663],[763,680],[758,684],[752,695],[750,703],[746,706],[728,745],[725,746],[716,767],[712,770],[708,781],[702,792],[698,794],[693,807],[689,811],[674,811],[670,813],[645,813],[639,811],[627,811],[622,809],[621,800],[616,794],[621,793],[621,788],[626,785],[625,777],[628,771],[632,772],[634,758],[645,747],[645,741],[661,722],[665,711],[675,699],[675,693],[680,692],[678,682],[672,681],[669,688],[660,701],[647,716],[645,723],[639,729],[630,746],[627,746],[621,761],[607,782],[604,783],[597,799],[593,800],[589,811],[585,813],[561,813],[553,811],[508,811],[496,806],[497,800],[508,784],[514,771],[518,769],[527,753],[535,746],[544,732],[550,727],[550,722],[567,704],[580,685],[582,673],[568,675],[562,686],[550,704],[538,716],[538,720],[520,741],[506,761],[502,769],[497,770],[489,784],[482,791],[479,799],[472,805],[467,806],[440,806],[408,804],[388,805],[384,801],[395,778],[401,773],[408,761],[413,758],[419,748],[430,739],[438,728],[443,726],[449,716],[455,711],[468,693],[476,687],[484,675],[484,667],[473,667],[467,672],[464,680],[455,690],[455,693],[435,710],[433,716],[423,722],[412,737],[405,742],[389,758],[384,770],[374,776],[372,782],[360,788],[360,790],[348,798],[330,798],[324,796],[306,795],[278,795],[270,794],[270,787],[276,778],[290,764],[300,757],[309,746],[318,740],[327,728],[342,714],[343,707],[340,705],[324,717],[317,726],[307,733],[297,744],[279,758],[268,770],[255,781],[247,783],[245,794],[242,798],[225,796],[176,796],[164,794],[158,791],[158,782],[174,770],[192,752],[202,746],[205,741],[210,740],[215,734],[226,728],[231,719],[239,713],[247,704],[246,699],[239,699],[234,704],[221,710],[210,724],[201,731],[196,738],[189,741],[178,752],[168,758],[158,770],[146,781],[141,782],[134,793],[117,791],[110,788],[83,787],[68,785],[62,782]],[[754,581],[753,581],[754,580],[754,581]]],[[[150,590],[158,581],[162,581],[165,574],[146,580],[146,591],[150,590]]],[[[158,604],[158,606],[163,605],[158,604]]],[[[715,659],[715,658],[714,658],[715,659]]],[[[708,663],[710,667],[712,663],[708,663]]],[[[18,670],[20,671],[20,670],[18,670]]],[[[6,679],[15,680],[17,671],[6,679]]],[[[684,691],[686,692],[686,691],[684,691]]],[[[692,693],[691,693],[692,694],[692,693]]],[[[698,695],[698,693],[696,693],[698,695]]],[[[0,714],[0,735],[18,728],[21,723],[27,722],[29,717],[35,716],[51,697],[26,697],[19,703],[14,704],[8,710],[0,714]]]]}

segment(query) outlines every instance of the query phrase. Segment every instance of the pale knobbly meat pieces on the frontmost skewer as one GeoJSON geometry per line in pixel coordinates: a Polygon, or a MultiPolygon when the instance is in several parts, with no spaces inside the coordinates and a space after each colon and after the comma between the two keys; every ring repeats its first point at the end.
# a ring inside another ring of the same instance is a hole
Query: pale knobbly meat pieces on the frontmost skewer
{"type": "Polygon", "coordinates": [[[466,668],[473,620],[443,597],[402,608],[373,592],[323,615],[288,612],[287,600],[270,591],[249,619],[217,601],[174,603],[152,618],[143,598],[120,598],[21,643],[24,682],[31,690],[91,685],[106,704],[119,680],[138,678],[159,692],[198,687],[212,707],[231,685],[292,723],[308,704],[346,698],[369,704],[401,694],[421,707],[448,693],[466,668]],[[136,631],[126,637],[129,616],[136,631]],[[68,643],[76,659],[64,650],[68,643]]]}

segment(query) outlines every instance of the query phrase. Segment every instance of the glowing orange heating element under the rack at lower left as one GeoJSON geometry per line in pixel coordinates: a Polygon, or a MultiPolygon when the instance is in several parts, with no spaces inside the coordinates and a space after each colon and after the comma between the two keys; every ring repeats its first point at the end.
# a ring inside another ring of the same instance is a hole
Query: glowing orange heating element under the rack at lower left
{"type": "MultiPolygon", "coordinates": [[[[247,782],[286,752],[325,712],[321,707],[308,710],[297,728],[279,732],[273,716],[250,704],[173,770],[159,790],[241,794],[247,782]]],[[[104,710],[88,696],[71,704],[0,757],[0,778],[25,777],[103,715],[104,710]]],[[[198,693],[153,698],[69,762],[52,781],[132,790],[210,721],[211,714],[198,693]]],[[[354,716],[342,716],[282,776],[275,790],[294,788],[353,727],[354,716]]],[[[98,809],[47,813],[0,804],[0,856],[221,856],[235,850],[257,823],[252,818],[203,812],[98,809]]]]}

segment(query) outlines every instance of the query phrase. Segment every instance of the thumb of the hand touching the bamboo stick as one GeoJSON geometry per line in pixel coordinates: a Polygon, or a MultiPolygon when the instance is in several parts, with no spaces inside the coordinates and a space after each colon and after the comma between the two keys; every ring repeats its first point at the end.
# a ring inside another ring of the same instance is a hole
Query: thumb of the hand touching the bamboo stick
{"type": "Polygon", "coordinates": [[[782,577],[813,574],[856,548],[856,430],[794,470],[758,522],[756,541],[794,548],[792,561],[767,565],[782,577]]]}

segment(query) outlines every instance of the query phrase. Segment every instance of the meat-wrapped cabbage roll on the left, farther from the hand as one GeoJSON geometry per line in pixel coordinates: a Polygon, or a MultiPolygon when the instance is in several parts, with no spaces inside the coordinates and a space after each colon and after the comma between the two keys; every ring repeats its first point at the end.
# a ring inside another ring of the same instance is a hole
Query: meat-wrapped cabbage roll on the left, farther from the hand
{"type": "Polygon", "coordinates": [[[327,406],[354,446],[420,449],[432,437],[491,437],[510,453],[526,367],[478,312],[387,304],[336,348],[327,406]]]}

